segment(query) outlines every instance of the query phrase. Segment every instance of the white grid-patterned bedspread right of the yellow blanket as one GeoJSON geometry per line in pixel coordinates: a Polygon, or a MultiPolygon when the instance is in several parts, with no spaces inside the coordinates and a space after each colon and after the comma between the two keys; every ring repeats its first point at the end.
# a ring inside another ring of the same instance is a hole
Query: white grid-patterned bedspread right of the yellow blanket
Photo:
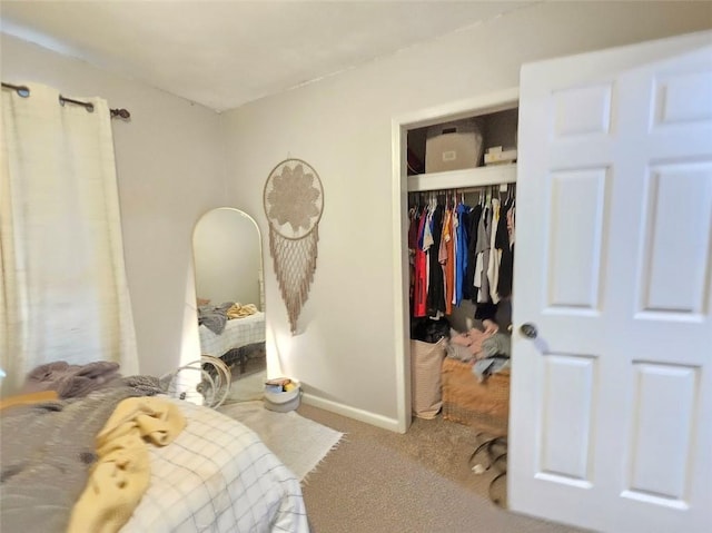
{"type": "Polygon", "coordinates": [[[121,533],[308,532],[298,480],[256,433],[174,399],[186,428],[152,447],[151,483],[121,533]]]}

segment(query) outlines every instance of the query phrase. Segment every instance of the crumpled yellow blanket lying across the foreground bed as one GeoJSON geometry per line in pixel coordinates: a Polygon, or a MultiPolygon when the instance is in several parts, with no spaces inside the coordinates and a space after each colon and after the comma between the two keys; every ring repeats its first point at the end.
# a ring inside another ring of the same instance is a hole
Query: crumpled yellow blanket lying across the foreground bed
{"type": "Polygon", "coordinates": [[[178,407],[165,399],[122,401],[97,435],[97,463],[75,505],[68,533],[112,533],[128,522],[148,488],[146,441],[169,444],[186,426],[178,407]]]}

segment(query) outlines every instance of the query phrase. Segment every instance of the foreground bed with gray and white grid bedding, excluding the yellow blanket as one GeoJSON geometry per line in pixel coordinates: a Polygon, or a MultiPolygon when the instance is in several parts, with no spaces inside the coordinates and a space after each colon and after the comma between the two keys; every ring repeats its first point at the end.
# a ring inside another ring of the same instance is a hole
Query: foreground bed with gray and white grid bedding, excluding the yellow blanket
{"type": "Polygon", "coordinates": [[[120,529],[101,531],[309,531],[299,481],[256,433],[210,408],[156,395],[146,379],[121,379],[83,397],[1,407],[2,531],[72,531],[78,502],[100,470],[97,434],[125,401],[144,398],[175,406],[185,427],[165,446],[146,444],[147,488],[120,529]]]}

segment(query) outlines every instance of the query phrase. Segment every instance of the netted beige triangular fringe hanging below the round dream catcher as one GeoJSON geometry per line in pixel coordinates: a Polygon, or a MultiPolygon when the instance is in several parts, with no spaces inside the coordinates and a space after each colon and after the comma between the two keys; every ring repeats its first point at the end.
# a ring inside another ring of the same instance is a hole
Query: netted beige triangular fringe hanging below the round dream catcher
{"type": "Polygon", "coordinates": [[[279,282],[279,292],[287,306],[293,335],[297,332],[297,319],[314,282],[318,241],[318,227],[301,239],[287,239],[269,228],[269,253],[279,282]]]}

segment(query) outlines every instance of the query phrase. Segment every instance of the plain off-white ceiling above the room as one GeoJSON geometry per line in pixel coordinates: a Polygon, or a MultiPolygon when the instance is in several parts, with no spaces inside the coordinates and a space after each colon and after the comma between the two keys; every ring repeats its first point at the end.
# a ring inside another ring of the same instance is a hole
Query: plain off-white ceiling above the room
{"type": "Polygon", "coordinates": [[[221,111],[531,3],[1,0],[0,30],[221,111]]]}

